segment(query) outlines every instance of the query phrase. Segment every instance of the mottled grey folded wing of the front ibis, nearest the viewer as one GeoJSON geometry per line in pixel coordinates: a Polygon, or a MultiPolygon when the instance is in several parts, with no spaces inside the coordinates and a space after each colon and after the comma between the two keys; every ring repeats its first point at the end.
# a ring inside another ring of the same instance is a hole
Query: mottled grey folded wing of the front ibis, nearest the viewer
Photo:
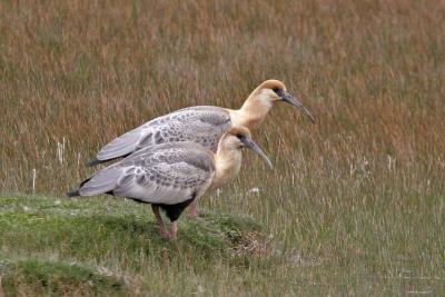
{"type": "Polygon", "coordinates": [[[210,150],[190,142],[151,146],[93,176],[81,196],[110,192],[150,204],[175,205],[200,196],[215,175],[210,150]]]}

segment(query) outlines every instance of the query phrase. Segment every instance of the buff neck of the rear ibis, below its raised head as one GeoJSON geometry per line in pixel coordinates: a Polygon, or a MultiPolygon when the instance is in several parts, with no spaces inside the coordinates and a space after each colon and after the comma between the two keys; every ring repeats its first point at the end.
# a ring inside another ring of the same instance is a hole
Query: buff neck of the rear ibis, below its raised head
{"type": "Polygon", "coordinates": [[[229,110],[233,125],[256,129],[261,125],[273,103],[261,95],[251,93],[238,110],[229,110]]]}

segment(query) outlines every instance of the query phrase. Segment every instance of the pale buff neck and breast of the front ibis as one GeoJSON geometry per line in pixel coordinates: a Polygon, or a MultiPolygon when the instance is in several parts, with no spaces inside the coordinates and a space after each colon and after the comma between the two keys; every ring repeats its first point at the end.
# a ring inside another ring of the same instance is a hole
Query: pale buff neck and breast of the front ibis
{"type": "Polygon", "coordinates": [[[234,180],[241,168],[241,161],[243,154],[239,148],[226,147],[220,141],[215,155],[215,178],[210,189],[216,190],[234,180]]]}

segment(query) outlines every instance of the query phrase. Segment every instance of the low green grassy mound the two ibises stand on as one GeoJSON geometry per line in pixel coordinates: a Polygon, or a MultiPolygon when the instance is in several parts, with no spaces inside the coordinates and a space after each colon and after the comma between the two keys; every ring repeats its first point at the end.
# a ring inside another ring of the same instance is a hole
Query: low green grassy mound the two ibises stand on
{"type": "Polygon", "coordinates": [[[253,219],[211,211],[181,218],[178,239],[167,241],[149,207],[122,199],[9,196],[0,205],[2,286],[11,295],[121,294],[128,284],[115,275],[190,258],[236,266],[267,242],[253,219]]]}

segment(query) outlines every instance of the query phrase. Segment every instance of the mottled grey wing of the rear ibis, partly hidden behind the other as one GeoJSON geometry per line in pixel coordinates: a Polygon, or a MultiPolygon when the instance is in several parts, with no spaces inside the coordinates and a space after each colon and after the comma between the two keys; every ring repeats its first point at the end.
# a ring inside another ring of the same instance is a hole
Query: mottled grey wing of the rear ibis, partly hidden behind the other
{"type": "Polygon", "coordinates": [[[227,110],[219,107],[185,108],[156,118],[116,138],[97,154],[98,162],[125,157],[144,147],[172,141],[192,141],[216,151],[231,127],[227,110]]]}

